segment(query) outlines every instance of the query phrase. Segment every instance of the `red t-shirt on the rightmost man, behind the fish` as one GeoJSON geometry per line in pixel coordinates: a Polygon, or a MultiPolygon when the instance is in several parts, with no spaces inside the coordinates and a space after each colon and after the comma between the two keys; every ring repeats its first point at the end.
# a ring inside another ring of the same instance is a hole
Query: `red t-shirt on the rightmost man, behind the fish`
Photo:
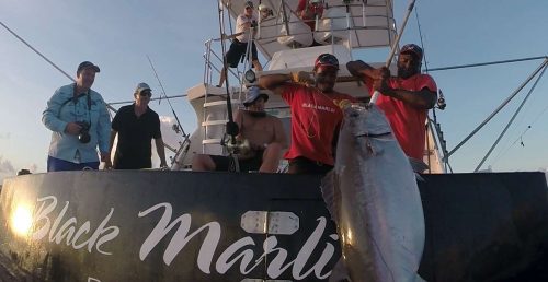
{"type": "MultiPolygon", "coordinates": [[[[366,85],[373,95],[369,87],[370,80],[366,80],[366,85]]],[[[429,74],[415,74],[409,79],[390,78],[388,85],[391,89],[400,89],[407,91],[421,91],[427,89],[432,92],[437,92],[434,79],[429,74]]],[[[393,134],[401,149],[408,156],[422,160],[424,154],[424,142],[426,138],[426,116],[427,109],[418,109],[408,104],[385,95],[379,95],[377,106],[385,111],[393,134]]]]}

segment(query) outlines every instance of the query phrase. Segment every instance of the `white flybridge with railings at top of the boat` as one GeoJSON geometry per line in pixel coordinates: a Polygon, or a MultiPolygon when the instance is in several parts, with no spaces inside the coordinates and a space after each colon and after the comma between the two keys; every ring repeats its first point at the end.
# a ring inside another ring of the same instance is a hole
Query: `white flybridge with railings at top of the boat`
{"type": "MultiPolygon", "coordinates": [[[[221,0],[232,19],[243,11],[243,0],[221,0]]],[[[297,16],[298,1],[255,0],[269,13],[259,11],[255,44],[264,57],[275,52],[309,47],[312,39],[321,45],[343,44],[349,49],[391,47],[396,38],[396,22],[391,0],[317,1],[323,13],[315,19],[313,31],[297,16]]]]}

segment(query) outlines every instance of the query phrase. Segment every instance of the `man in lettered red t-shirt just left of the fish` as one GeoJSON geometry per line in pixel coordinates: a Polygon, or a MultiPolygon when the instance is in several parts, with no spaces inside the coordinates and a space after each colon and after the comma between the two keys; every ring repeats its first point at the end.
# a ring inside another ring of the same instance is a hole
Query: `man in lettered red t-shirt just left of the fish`
{"type": "Polygon", "coordinates": [[[292,108],[292,144],[285,153],[292,174],[326,174],[333,168],[333,148],[343,118],[340,104],[355,102],[333,90],[339,60],[331,54],[316,59],[313,80],[307,72],[262,75],[259,85],[282,95],[292,108]]]}

